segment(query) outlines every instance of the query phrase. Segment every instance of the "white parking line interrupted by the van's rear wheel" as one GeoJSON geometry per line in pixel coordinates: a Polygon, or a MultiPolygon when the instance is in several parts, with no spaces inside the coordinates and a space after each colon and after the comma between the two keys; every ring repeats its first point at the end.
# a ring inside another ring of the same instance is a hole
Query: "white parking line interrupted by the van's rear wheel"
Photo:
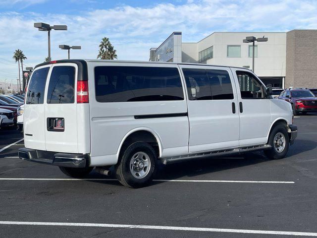
{"type": "MultiPolygon", "coordinates": [[[[35,179],[35,178],[0,178],[0,180],[38,180],[38,181],[117,181],[118,179],[35,179]]],[[[241,183],[295,183],[294,181],[242,181],[242,180],[188,180],[188,179],[153,179],[157,182],[241,182],[241,183]]]]}

